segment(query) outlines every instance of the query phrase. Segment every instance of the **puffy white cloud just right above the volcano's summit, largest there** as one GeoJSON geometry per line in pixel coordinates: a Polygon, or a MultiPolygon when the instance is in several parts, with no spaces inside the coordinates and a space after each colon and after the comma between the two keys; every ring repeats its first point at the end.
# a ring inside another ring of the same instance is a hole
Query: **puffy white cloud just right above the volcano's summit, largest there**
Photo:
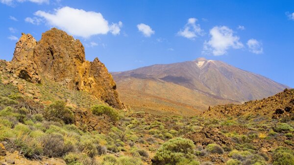
{"type": "Polygon", "coordinates": [[[210,30],[211,38],[204,42],[202,54],[212,53],[215,56],[223,55],[229,48],[242,48],[243,44],[234,31],[227,26],[215,26],[210,30]]]}

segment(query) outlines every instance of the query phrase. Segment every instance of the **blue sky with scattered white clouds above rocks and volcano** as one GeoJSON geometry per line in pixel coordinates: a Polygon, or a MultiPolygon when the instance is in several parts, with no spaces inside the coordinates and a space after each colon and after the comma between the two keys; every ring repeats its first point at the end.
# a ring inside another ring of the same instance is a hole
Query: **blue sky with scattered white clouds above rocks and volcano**
{"type": "Polygon", "coordinates": [[[293,0],[0,0],[0,58],[57,27],[109,71],[221,60],[294,87],[293,0]]]}

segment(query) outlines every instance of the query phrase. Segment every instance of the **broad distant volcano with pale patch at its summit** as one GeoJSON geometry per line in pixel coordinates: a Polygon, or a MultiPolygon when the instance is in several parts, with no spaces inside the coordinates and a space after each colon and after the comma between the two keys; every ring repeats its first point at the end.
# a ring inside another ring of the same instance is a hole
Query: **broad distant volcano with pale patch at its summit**
{"type": "Polygon", "coordinates": [[[122,101],[134,109],[167,110],[177,114],[197,113],[217,104],[261,99],[287,88],[259,74],[204,58],[112,75],[122,101]]]}

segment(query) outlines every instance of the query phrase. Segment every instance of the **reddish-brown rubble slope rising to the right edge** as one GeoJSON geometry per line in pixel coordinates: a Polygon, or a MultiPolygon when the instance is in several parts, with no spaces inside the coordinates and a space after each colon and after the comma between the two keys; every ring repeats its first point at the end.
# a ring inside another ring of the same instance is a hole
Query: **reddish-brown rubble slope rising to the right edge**
{"type": "Polygon", "coordinates": [[[294,119],[294,90],[285,89],[268,98],[248,101],[241,105],[217,105],[204,111],[202,116],[214,118],[249,116],[291,120],[294,119]]]}

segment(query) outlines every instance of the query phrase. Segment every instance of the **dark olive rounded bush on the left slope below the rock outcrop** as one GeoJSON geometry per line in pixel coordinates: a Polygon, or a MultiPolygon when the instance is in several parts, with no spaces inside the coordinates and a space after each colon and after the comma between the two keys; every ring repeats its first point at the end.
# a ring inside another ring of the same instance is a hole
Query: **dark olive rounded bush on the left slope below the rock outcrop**
{"type": "Polygon", "coordinates": [[[44,117],[52,121],[63,121],[65,124],[73,123],[73,112],[65,105],[63,101],[55,101],[45,108],[44,117]]]}

